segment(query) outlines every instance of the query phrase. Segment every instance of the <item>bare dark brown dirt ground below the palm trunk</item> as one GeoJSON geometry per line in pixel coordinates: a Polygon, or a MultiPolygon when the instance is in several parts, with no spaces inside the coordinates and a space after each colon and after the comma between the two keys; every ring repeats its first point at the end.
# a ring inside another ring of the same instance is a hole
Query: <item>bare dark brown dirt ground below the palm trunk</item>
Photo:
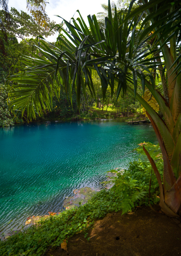
{"type": "Polygon", "coordinates": [[[181,223],[149,207],[121,216],[109,213],[84,234],[68,239],[67,250],[50,249],[46,256],[175,256],[181,255],[181,223]]]}

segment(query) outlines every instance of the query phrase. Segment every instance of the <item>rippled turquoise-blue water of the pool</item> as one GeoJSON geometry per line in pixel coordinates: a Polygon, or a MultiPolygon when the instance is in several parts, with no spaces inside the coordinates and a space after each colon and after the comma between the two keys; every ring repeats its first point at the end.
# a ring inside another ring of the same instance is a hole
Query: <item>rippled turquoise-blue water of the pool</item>
{"type": "Polygon", "coordinates": [[[98,187],[106,171],[138,158],[131,150],[143,141],[157,141],[152,126],[114,120],[1,128],[0,230],[60,211],[73,189],[98,187]]]}

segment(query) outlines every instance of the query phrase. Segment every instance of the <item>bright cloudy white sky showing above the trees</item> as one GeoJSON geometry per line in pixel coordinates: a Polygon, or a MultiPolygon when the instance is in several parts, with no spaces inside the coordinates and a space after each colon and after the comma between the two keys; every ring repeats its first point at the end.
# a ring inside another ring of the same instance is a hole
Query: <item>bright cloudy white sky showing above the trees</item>
{"type": "MultiPolygon", "coordinates": [[[[87,21],[87,15],[97,14],[102,12],[101,4],[108,4],[108,0],[48,0],[45,11],[51,20],[60,23],[62,20],[55,15],[59,15],[69,21],[77,10],[80,11],[83,19],[87,21]]],[[[9,0],[9,10],[15,7],[18,11],[22,10],[28,13],[26,9],[26,0],[9,0]]],[[[74,15],[77,18],[78,14],[74,15]]],[[[88,22],[86,22],[88,25],[88,22]]],[[[48,41],[56,41],[56,36],[47,38],[48,41]]]]}

